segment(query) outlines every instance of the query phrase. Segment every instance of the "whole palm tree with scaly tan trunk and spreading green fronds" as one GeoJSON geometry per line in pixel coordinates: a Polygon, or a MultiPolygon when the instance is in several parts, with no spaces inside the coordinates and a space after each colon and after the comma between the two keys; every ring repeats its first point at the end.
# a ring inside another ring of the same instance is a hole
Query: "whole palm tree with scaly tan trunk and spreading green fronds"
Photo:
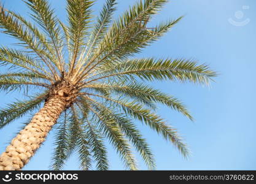
{"type": "Polygon", "coordinates": [[[18,49],[0,48],[0,64],[6,69],[0,74],[0,90],[19,90],[27,97],[1,109],[0,128],[41,108],[0,156],[0,170],[25,166],[52,128],[56,148],[51,169],[61,169],[76,151],[81,169],[90,169],[95,161],[97,169],[107,170],[105,140],[127,169],[138,169],[130,144],[154,169],[152,151],[134,121],[149,126],[188,156],[187,145],[155,107],[165,104],[190,120],[192,116],[178,99],[144,82],[208,84],[215,72],[190,59],[131,58],[182,18],[147,27],[167,1],[138,1],[112,21],[116,1],[107,0],[93,24],[93,1],[67,0],[67,25],[46,0],[25,1],[35,23],[0,6],[2,33],[18,40],[18,49]]]}

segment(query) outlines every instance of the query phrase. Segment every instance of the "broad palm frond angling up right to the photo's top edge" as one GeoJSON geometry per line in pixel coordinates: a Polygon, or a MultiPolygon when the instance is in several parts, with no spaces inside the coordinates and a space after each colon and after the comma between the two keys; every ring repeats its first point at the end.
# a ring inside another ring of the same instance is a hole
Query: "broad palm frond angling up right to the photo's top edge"
{"type": "MultiPolygon", "coordinates": [[[[155,39],[155,36],[152,36],[152,33],[146,29],[146,25],[150,20],[150,15],[157,13],[165,3],[166,0],[139,1],[130,10],[126,11],[118,21],[115,21],[109,33],[104,36],[97,52],[82,70],[82,78],[98,64],[104,63],[105,60],[106,63],[131,56],[147,45],[147,41],[150,40],[149,37],[155,39]],[[147,37],[146,40],[145,37],[147,37]],[[94,62],[95,64],[93,64],[94,62]],[[89,66],[91,67],[85,72],[89,66]]],[[[177,21],[173,21],[173,25],[177,21]]]]}

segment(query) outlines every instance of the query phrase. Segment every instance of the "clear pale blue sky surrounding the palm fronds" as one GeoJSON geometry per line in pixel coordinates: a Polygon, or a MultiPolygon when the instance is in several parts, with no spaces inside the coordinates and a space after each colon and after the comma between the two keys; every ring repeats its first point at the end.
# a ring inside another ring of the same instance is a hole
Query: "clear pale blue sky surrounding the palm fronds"
{"type": "MultiPolygon", "coordinates": [[[[8,9],[28,12],[20,0],[1,0],[8,9]]],[[[58,16],[65,20],[65,1],[49,0],[58,16]]],[[[96,12],[103,0],[96,1],[96,12]]],[[[115,16],[120,15],[136,0],[119,0],[115,16]]],[[[256,169],[256,1],[254,0],[173,0],[153,19],[153,23],[168,18],[185,18],[166,36],[146,48],[138,57],[194,58],[208,63],[219,72],[211,88],[191,83],[155,82],[153,85],[173,94],[188,106],[195,122],[166,107],[160,114],[168,119],[184,137],[192,156],[182,158],[173,145],[157,133],[138,124],[147,138],[158,170],[246,170],[256,169]]],[[[153,24],[152,24],[153,25],[153,24]]],[[[0,33],[0,44],[13,40],[0,33]]],[[[2,72],[0,68],[0,72],[2,72]]],[[[0,93],[0,107],[5,107],[18,93],[0,93]]],[[[0,152],[4,151],[26,118],[0,129],[0,152]]],[[[54,132],[25,170],[47,170],[53,151],[54,132]]],[[[137,154],[138,155],[138,154],[137,154]]],[[[110,169],[122,170],[123,164],[109,147],[110,169]]],[[[146,169],[138,156],[139,166],[146,169]]],[[[77,157],[72,156],[64,167],[78,169],[77,157]]]]}

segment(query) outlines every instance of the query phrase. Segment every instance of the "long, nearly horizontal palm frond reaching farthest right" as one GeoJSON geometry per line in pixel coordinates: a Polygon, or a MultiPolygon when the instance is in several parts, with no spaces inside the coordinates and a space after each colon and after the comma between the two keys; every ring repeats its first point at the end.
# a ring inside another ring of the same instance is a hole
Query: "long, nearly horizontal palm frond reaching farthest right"
{"type": "Polygon", "coordinates": [[[197,64],[187,59],[129,59],[126,62],[112,66],[101,77],[91,79],[85,84],[122,75],[135,75],[144,80],[179,80],[209,84],[209,80],[217,74],[206,64],[197,64]]]}

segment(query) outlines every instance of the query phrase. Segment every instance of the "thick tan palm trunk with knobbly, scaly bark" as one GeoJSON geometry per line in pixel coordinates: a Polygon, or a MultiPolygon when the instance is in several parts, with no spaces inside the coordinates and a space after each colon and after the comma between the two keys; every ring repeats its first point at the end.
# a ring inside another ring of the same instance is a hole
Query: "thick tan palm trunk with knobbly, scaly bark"
{"type": "Polygon", "coordinates": [[[55,125],[66,101],[56,95],[45,102],[44,107],[34,115],[31,122],[12,139],[6,151],[0,156],[0,171],[20,170],[45,141],[48,132],[55,125]]]}

